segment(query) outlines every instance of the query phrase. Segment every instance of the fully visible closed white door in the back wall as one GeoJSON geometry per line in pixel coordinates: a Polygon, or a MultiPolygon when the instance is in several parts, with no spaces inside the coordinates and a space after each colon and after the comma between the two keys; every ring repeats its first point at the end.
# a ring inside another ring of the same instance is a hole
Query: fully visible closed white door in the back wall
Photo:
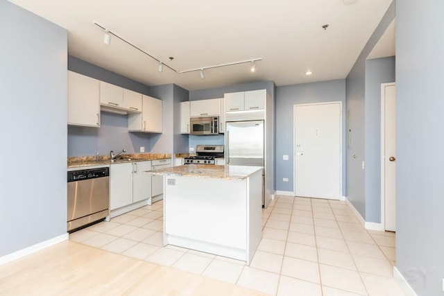
{"type": "Polygon", "coordinates": [[[341,102],[294,106],[296,196],[342,195],[341,102]]]}

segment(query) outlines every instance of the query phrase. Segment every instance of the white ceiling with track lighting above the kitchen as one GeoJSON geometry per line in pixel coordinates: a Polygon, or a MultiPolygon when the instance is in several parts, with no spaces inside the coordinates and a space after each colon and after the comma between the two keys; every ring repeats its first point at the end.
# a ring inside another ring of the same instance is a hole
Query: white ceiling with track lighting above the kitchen
{"type": "MultiPolygon", "coordinates": [[[[185,89],[258,80],[276,85],[345,78],[392,0],[10,0],[68,30],[69,55],[146,85],[185,89]],[[183,71],[262,58],[250,64],[176,73],[128,42],[183,71]],[[330,24],[326,31],[323,24],[330,24]],[[174,60],[170,61],[169,57],[174,60]],[[305,76],[305,71],[313,75],[305,76]]],[[[32,28],[30,28],[32,32],[32,28]]]]}

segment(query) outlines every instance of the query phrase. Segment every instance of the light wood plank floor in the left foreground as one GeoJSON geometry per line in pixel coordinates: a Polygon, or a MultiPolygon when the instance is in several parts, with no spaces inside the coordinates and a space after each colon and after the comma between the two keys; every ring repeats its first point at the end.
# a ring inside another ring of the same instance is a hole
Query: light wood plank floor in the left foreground
{"type": "Polygon", "coordinates": [[[262,295],[65,241],[0,266],[0,295],[262,295]]]}

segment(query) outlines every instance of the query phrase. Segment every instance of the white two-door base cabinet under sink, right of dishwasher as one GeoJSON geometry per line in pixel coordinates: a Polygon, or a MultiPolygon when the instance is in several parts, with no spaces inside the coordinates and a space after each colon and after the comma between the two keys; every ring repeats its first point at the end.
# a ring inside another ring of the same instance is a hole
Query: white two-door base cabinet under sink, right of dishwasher
{"type": "Polygon", "coordinates": [[[147,204],[151,204],[151,175],[144,171],[151,171],[151,161],[110,166],[111,211],[142,200],[148,200],[147,204]]]}

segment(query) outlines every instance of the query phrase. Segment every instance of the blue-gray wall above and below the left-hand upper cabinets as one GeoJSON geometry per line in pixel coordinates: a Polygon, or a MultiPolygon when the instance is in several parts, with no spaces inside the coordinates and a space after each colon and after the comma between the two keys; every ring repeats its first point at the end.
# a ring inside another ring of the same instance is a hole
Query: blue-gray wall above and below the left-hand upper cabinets
{"type": "MultiPolygon", "coordinates": [[[[94,64],[73,56],[68,57],[68,69],[98,80],[119,85],[141,94],[149,95],[149,87],[117,73],[108,71],[94,64]]],[[[100,128],[82,128],[68,126],[68,156],[108,155],[125,148],[126,153],[139,153],[140,147],[150,152],[151,134],[128,132],[128,116],[101,112],[100,128]]]]}

